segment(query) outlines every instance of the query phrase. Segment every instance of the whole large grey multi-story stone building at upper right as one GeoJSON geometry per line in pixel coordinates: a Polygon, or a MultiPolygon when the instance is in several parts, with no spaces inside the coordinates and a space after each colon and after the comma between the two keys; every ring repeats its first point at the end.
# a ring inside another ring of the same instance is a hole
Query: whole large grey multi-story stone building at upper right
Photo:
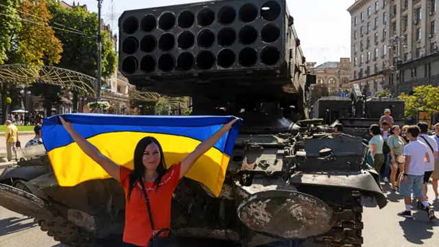
{"type": "Polygon", "coordinates": [[[351,13],[351,83],[409,93],[439,85],[436,0],[357,0],[351,13]],[[371,24],[369,24],[371,23],[371,24]],[[372,31],[370,28],[372,27],[372,31]]]}

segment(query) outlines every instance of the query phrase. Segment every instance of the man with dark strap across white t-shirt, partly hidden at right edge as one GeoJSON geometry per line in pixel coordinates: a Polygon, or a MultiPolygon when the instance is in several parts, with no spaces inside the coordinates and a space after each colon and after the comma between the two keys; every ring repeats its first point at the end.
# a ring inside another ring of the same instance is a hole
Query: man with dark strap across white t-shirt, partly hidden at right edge
{"type": "Polygon", "coordinates": [[[434,171],[434,161],[438,157],[438,143],[436,140],[431,138],[428,132],[428,124],[424,122],[419,122],[418,127],[420,129],[420,134],[418,141],[424,143],[427,146],[428,154],[430,156],[430,161],[425,163],[425,173],[424,173],[424,196],[427,198],[427,185],[430,180],[431,174],[434,171]]]}

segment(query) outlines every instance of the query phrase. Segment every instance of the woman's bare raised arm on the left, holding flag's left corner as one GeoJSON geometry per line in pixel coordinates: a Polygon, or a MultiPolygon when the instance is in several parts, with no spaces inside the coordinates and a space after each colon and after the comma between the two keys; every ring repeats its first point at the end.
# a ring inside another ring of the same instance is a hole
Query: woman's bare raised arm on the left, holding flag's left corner
{"type": "Polygon", "coordinates": [[[81,135],[78,134],[75,129],[73,129],[71,123],[66,122],[62,117],[60,117],[60,121],[62,126],[64,126],[67,132],[69,132],[73,140],[78,144],[85,154],[92,158],[93,161],[98,163],[105,170],[105,172],[112,176],[112,178],[115,178],[115,180],[118,181],[121,180],[119,174],[119,165],[110,160],[110,158],[104,156],[104,154],[102,154],[94,145],[84,139],[84,137],[81,137],[81,135]]]}

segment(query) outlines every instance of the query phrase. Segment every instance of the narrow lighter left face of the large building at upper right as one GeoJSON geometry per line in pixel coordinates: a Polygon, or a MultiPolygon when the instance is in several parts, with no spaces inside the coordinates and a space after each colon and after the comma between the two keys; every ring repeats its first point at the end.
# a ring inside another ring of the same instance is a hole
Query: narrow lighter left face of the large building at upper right
{"type": "Polygon", "coordinates": [[[361,89],[375,93],[383,89],[390,65],[388,47],[388,5],[391,0],[357,0],[348,12],[351,13],[351,71],[350,84],[359,84],[361,89]]]}

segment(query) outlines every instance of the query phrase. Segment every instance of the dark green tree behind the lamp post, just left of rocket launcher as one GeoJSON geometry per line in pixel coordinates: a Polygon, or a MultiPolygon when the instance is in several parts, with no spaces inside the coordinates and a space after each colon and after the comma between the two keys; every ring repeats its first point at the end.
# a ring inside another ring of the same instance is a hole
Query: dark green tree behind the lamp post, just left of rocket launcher
{"type": "MultiPolygon", "coordinates": [[[[77,6],[63,8],[55,0],[47,2],[47,8],[54,16],[51,25],[62,27],[56,30],[56,37],[63,45],[62,58],[58,67],[78,71],[97,77],[97,25],[96,13],[89,13],[77,6]],[[62,26],[61,26],[62,25],[62,26]],[[69,28],[66,28],[69,27],[69,28]],[[78,31],[76,31],[78,30],[78,31]]],[[[110,33],[102,31],[102,77],[108,78],[117,68],[117,53],[113,50],[110,33]]]]}

